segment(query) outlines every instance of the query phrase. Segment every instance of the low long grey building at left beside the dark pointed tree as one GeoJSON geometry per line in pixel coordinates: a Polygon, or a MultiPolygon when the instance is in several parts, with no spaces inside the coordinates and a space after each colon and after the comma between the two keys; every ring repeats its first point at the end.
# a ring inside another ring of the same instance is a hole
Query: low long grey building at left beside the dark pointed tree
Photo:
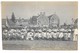
{"type": "Polygon", "coordinates": [[[13,22],[11,19],[6,19],[7,28],[23,28],[28,26],[27,19],[15,19],[16,22],[13,22]]]}

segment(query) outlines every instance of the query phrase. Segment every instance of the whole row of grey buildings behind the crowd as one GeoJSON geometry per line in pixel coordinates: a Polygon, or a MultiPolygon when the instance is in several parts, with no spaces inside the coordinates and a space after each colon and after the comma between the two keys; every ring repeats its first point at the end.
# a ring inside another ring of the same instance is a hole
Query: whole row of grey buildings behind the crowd
{"type": "Polygon", "coordinates": [[[17,28],[17,27],[59,27],[59,17],[56,14],[46,16],[45,12],[40,12],[38,16],[32,16],[28,19],[15,19],[15,16],[12,16],[11,19],[6,19],[6,26],[8,28],[17,28]],[[14,19],[12,19],[12,17],[14,19]],[[14,21],[13,21],[14,20],[14,21]]]}

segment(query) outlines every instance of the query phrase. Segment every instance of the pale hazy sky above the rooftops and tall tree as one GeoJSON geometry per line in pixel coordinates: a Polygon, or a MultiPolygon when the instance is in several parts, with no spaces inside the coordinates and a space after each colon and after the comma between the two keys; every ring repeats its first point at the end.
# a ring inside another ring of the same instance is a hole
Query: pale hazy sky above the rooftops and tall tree
{"type": "Polygon", "coordinates": [[[45,12],[46,16],[56,14],[60,19],[60,25],[72,23],[72,18],[78,18],[78,2],[2,2],[2,19],[11,18],[14,12],[16,19],[29,19],[45,12]]]}

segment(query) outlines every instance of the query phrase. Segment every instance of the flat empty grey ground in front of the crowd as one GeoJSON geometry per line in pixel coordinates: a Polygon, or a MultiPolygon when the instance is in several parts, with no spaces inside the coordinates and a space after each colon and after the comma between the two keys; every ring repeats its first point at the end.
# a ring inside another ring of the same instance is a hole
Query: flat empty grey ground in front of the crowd
{"type": "Polygon", "coordinates": [[[3,50],[77,50],[77,42],[49,40],[11,40],[2,41],[3,50]]]}

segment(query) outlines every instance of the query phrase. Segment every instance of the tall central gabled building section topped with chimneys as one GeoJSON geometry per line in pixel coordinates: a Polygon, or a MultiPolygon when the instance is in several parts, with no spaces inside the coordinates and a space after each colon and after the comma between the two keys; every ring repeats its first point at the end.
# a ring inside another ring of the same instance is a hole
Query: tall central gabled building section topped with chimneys
{"type": "Polygon", "coordinates": [[[45,15],[45,12],[40,12],[37,18],[37,25],[40,27],[49,26],[49,18],[45,15]]]}

